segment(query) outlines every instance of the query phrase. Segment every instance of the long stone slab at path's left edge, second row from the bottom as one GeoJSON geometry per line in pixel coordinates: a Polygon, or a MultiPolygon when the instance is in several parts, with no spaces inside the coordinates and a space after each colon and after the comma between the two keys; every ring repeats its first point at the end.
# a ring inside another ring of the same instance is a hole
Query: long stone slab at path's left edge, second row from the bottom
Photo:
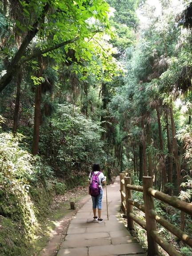
{"type": "Polygon", "coordinates": [[[98,238],[98,239],[78,239],[78,240],[65,240],[61,244],[61,248],[78,248],[78,247],[90,247],[90,246],[102,246],[110,245],[110,238],[98,238]]]}

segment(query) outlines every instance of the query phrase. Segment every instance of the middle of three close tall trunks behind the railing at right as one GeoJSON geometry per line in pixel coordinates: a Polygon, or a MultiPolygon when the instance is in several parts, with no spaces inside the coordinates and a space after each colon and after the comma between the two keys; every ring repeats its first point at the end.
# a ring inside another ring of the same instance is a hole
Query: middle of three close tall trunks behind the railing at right
{"type": "MultiPolygon", "coordinates": [[[[165,110],[166,116],[166,127],[167,127],[167,140],[168,140],[168,183],[172,184],[172,166],[173,166],[173,159],[172,159],[172,141],[171,141],[171,134],[169,128],[169,110],[168,108],[165,110]]],[[[172,195],[172,188],[168,188],[168,193],[172,195]]]]}

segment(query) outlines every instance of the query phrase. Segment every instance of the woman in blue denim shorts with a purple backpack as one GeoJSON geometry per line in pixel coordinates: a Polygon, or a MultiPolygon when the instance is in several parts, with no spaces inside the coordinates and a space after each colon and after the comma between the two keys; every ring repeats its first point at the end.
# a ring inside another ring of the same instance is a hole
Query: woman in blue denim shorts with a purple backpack
{"type": "Polygon", "coordinates": [[[106,178],[103,172],[100,171],[99,164],[93,164],[92,172],[89,174],[89,195],[92,196],[92,209],[93,209],[93,220],[98,223],[102,222],[101,209],[102,209],[102,197],[103,188],[102,184],[106,184],[106,178]],[[98,210],[98,216],[96,216],[96,208],[98,210]]]}

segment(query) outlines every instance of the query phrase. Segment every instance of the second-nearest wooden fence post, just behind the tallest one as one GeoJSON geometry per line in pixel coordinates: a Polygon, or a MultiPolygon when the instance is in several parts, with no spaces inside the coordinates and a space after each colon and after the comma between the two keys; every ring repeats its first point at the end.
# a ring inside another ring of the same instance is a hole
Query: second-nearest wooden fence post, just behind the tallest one
{"type": "Polygon", "coordinates": [[[131,185],[131,177],[124,177],[125,195],[126,195],[126,210],[127,210],[127,223],[128,229],[134,229],[134,221],[130,218],[129,213],[132,213],[133,206],[128,204],[128,199],[132,200],[132,191],[127,188],[127,184],[131,185]]]}

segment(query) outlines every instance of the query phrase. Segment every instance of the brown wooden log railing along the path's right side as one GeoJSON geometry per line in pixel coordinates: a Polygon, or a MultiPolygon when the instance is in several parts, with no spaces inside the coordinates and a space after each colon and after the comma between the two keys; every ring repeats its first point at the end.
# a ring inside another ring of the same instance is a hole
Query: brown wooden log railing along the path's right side
{"type": "Polygon", "coordinates": [[[130,174],[120,173],[121,207],[127,216],[129,229],[134,229],[134,222],[147,231],[148,256],[157,256],[159,244],[170,256],[181,256],[176,249],[157,233],[156,222],[174,234],[179,240],[192,247],[192,237],[177,228],[155,212],[154,198],[161,200],[174,208],[192,215],[192,204],[179,200],[176,196],[168,196],[152,188],[152,177],[143,177],[143,187],[132,185],[130,174]],[[129,176],[129,177],[128,177],[129,176]],[[132,190],[143,193],[144,205],[132,200],[132,190]],[[133,213],[133,206],[145,213],[145,221],[133,213]]]}

